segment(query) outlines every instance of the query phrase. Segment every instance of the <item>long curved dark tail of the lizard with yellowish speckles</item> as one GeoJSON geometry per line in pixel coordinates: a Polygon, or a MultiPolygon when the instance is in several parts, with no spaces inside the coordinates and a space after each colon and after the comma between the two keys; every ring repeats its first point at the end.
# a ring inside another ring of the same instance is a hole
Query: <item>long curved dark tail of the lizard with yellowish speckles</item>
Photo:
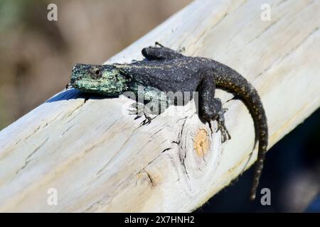
{"type": "Polygon", "coordinates": [[[247,109],[249,109],[253,118],[255,125],[255,141],[259,140],[255,173],[250,191],[250,199],[254,200],[268,145],[268,127],[265,109],[262,106],[262,101],[257,90],[247,81],[247,79],[231,68],[229,68],[227,72],[226,70],[223,70],[223,73],[219,73],[219,77],[215,77],[215,85],[218,88],[239,96],[240,100],[242,100],[247,106],[247,109]]]}

